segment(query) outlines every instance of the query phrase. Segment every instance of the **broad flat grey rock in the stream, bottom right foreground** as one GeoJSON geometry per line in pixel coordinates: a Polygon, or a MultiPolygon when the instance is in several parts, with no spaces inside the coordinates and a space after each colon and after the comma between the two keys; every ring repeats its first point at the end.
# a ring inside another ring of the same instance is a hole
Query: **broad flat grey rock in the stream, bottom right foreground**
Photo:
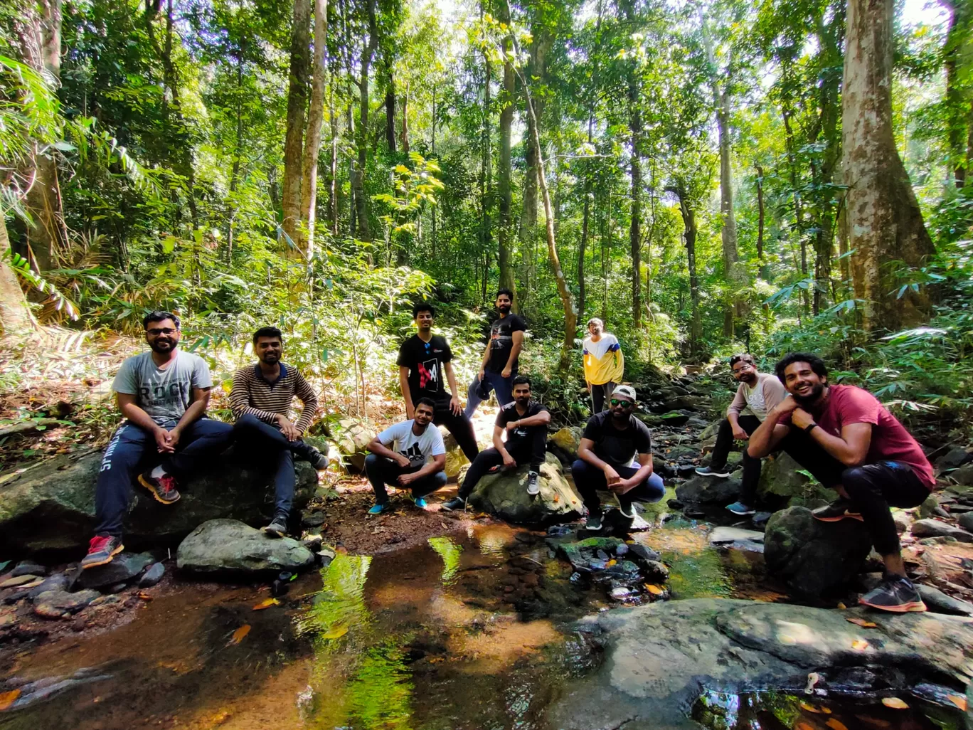
{"type": "Polygon", "coordinates": [[[603,647],[604,661],[551,706],[548,722],[564,730],[699,728],[687,713],[703,688],[793,690],[811,672],[832,691],[928,681],[961,693],[973,662],[973,622],[931,613],[694,599],[605,611],[576,628],[603,647]],[[855,617],[878,626],[847,621],[855,617]]]}

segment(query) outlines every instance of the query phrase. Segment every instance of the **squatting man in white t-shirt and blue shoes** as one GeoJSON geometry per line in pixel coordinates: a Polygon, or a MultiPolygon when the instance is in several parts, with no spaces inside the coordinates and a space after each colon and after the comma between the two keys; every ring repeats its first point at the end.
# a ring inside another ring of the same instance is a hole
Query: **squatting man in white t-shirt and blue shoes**
{"type": "Polygon", "coordinates": [[[386,485],[410,490],[419,509],[425,509],[426,494],[446,486],[446,445],[443,434],[432,425],[435,415],[436,402],[419,398],[413,419],[389,426],[368,445],[372,453],[365,457],[365,473],[375,490],[370,515],[391,509],[386,485]]]}

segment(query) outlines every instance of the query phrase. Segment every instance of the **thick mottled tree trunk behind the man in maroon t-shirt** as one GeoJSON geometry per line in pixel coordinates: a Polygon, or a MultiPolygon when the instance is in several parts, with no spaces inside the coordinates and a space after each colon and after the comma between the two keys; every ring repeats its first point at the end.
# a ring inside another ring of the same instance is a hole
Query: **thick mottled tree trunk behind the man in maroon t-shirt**
{"type": "Polygon", "coordinates": [[[855,297],[865,329],[918,321],[927,297],[889,294],[883,264],[919,266],[933,253],[919,202],[892,132],[893,0],[848,0],[842,148],[847,179],[848,245],[855,297]]]}

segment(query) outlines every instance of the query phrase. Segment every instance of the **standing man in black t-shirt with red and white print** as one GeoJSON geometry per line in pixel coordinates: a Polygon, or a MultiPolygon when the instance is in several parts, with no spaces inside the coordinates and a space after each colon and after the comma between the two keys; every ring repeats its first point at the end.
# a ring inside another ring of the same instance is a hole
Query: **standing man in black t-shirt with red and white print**
{"type": "Polygon", "coordinates": [[[418,330],[399,347],[399,384],[406,399],[406,418],[414,418],[414,404],[419,398],[430,398],[436,404],[432,422],[445,425],[456,439],[463,455],[470,461],[480,448],[473,431],[473,423],[463,414],[456,395],[456,375],[452,371],[452,350],[445,337],[432,334],[436,310],[432,305],[418,303],[413,307],[413,319],[418,330]],[[450,383],[447,392],[446,385],[450,383]]]}

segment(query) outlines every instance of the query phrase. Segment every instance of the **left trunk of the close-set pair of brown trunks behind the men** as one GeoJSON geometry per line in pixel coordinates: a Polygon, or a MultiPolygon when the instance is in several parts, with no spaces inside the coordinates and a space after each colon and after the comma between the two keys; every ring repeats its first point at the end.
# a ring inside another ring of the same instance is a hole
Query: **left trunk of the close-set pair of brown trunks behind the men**
{"type": "Polygon", "coordinates": [[[310,2],[294,0],[291,27],[291,64],[287,90],[287,131],[284,137],[283,206],[284,233],[301,246],[301,185],[303,181],[307,70],[310,47],[310,2]]]}

